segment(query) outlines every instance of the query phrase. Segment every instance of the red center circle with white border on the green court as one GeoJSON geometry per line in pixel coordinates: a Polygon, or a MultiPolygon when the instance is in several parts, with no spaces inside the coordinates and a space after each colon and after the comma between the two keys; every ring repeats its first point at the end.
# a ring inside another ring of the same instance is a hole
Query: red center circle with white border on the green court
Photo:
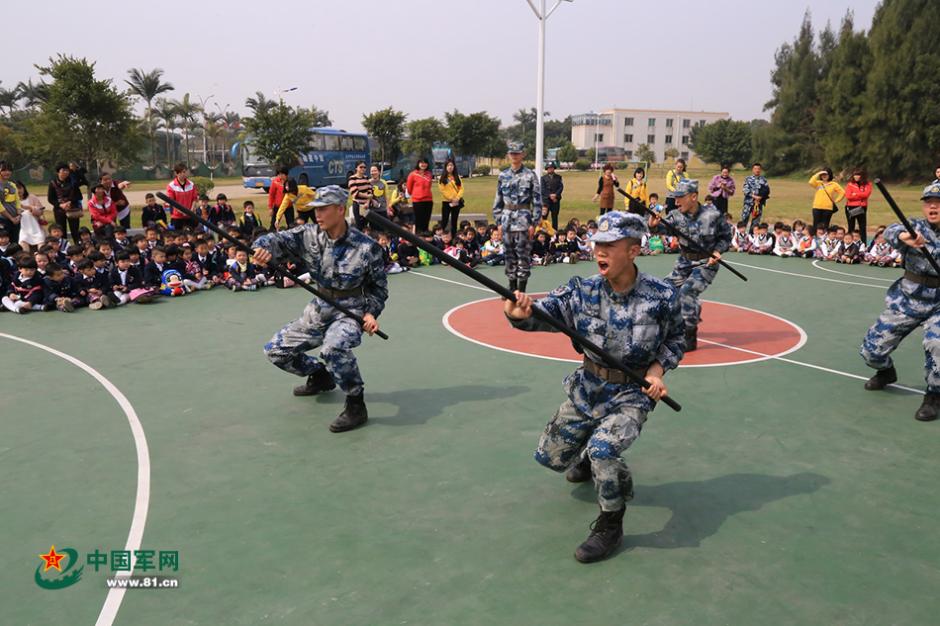
{"type": "MultiPolygon", "coordinates": [[[[461,304],[445,313],[442,321],[461,339],[494,350],[581,362],[581,355],[562,333],[530,333],[510,326],[500,298],[461,304]]],[[[698,349],[687,353],[679,367],[754,363],[790,354],[804,343],[806,333],[793,322],[736,304],[703,300],[698,349]]]]}

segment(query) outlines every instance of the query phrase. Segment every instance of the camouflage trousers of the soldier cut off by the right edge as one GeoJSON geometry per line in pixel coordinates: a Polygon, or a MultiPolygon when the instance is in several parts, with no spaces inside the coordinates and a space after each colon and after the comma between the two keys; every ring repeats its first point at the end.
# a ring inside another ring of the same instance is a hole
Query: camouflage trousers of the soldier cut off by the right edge
{"type": "Polygon", "coordinates": [[[891,353],[920,325],[924,326],[927,391],[940,393],[940,289],[896,281],[888,288],[885,310],[868,329],[860,353],[869,367],[893,367],[891,353]]]}

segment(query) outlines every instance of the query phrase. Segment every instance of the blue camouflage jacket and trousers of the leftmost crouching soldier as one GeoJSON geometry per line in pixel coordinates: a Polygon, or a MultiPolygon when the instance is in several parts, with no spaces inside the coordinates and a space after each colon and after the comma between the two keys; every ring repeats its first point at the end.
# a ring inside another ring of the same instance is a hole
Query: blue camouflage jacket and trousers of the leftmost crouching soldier
{"type": "MultiPolygon", "coordinates": [[[[285,256],[302,259],[322,288],[340,291],[361,288],[360,295],[337,298],[339,304],[359,315],[371,313],[378,318],[385,308],[388,285],[382,249],[353,226],[336,241],[315,223],[309,223],[263,235],[254,245],[270,252],[275,262],[285,256]]],[[[325,366],[347,395],[358,395],[363,383],[352,349],[361,340],[358,322],[314,298],[299,319],[287,324],[265,344],[264,352],[279,368],[298,376],[310,376],[325,366]],[[323,363],[305,354],[318,346],[323,363]]]]}

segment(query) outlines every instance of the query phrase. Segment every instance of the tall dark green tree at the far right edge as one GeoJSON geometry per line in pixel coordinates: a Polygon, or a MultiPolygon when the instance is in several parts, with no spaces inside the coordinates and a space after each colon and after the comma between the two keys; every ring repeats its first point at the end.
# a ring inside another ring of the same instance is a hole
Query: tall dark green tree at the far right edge
{"type": "Polygon", "coordinates": [[[869,167],[886,178],[922,180],[940,153],[940,38],[924,19],[935,12],[931,0],[884,0],[872,19],[861,144],[869,167]]]}

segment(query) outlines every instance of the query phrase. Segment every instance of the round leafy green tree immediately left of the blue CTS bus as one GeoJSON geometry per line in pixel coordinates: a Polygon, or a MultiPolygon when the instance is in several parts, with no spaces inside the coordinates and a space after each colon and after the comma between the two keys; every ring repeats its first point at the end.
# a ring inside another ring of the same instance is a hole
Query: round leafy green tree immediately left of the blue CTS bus
{"type": "MultiPolygon", "coordinates": [[[[245,104],[252,108],[249,102],[245,104]]],[[[310,129],[316,122],[313,112],[283,102],[256,107],[252,112],[245,126],[253,151],[275,166],[295,165],[310,143],[310,129]]]]}

